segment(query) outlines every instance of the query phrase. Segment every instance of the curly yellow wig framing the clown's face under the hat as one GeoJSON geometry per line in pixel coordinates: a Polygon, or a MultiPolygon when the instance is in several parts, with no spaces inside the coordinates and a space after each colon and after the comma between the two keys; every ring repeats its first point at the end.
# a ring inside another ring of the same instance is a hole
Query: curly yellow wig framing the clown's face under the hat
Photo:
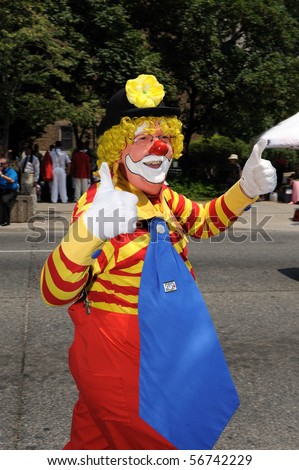
{"type": "Polygon", "coordinates": [[[97,156],[98,167],[102,162],[107,162],[109,166],[120,159],[121,151],[129,144],[132,143],[135,131],[138,126],[146,122],[148,127],[145,129],[149,134],[156,132],[155,125],[159,121],[161,129],[165,135],[171,136],[171,145],[173,148],[173,158],[178,159],[183,152],[183,134],[182,123],[177,117],[157,118],[154,116],[148,117],[123,117],[120,124],[111,127],[98,140],[97,156]]]}

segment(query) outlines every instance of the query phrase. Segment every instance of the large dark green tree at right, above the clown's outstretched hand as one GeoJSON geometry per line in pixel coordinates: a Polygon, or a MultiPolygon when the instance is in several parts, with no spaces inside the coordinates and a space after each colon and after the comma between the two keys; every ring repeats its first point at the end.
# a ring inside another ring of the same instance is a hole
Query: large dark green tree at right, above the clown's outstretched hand
{"type": "Polygon", "coordinates": [[[298,15],[286,4],[130,2],[133,25],[146,28],[180,90],[187,147],[194,133],[250,140],[297,110],[298,15]]]}

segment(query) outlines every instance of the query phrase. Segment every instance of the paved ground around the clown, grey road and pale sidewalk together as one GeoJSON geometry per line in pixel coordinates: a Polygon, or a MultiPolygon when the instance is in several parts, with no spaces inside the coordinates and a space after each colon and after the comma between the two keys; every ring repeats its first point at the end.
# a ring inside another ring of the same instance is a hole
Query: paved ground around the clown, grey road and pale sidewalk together
{"type": "MultiPolygon", "coordinates": [[[[39,274],[72,206],[57,205],[53,217],[40,205],[39,225],[12,224],[0,231],[2,450],[61,449],[68,438],[76,398],[67,364],[72,324],[65,307],[42,303],[39,274]]],[[[224,237],[189,243],[241,398],[217,449],[298,449],[294,209],[256,203],[224,237]]]]}

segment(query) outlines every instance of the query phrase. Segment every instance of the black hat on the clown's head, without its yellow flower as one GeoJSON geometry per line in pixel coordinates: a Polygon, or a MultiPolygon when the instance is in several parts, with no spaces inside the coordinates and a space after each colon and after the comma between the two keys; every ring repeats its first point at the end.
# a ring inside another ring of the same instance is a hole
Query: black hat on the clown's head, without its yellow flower
{"type": "Polygon", "coordinates": [[[110,127],[120,123],[120,120],[124,116],[141,117],[141,116],[177,116],[180,115],[179,108],[171,108],[164,105],[164,102],[152,108],[137,108],[131,104],[126,95],[126,90],[122,88],[117,91],[112,98],[110,98],[107,108],[106,116],[102,119],[98,134],[102,135],[110,127]]]}

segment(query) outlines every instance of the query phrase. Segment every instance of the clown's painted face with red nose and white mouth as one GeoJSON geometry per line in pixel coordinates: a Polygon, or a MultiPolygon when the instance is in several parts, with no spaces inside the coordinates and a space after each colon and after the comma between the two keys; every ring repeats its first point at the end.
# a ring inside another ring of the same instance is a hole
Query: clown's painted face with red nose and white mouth
{"type": "Polygon", "coordinates": [[[172,160],[170,136],[157,123],[154,134],[146,133],[147,123],[136,129],[135,138],[121,152],[119,166],[127,180],[145,194],[159,194],[172,160]]]}

